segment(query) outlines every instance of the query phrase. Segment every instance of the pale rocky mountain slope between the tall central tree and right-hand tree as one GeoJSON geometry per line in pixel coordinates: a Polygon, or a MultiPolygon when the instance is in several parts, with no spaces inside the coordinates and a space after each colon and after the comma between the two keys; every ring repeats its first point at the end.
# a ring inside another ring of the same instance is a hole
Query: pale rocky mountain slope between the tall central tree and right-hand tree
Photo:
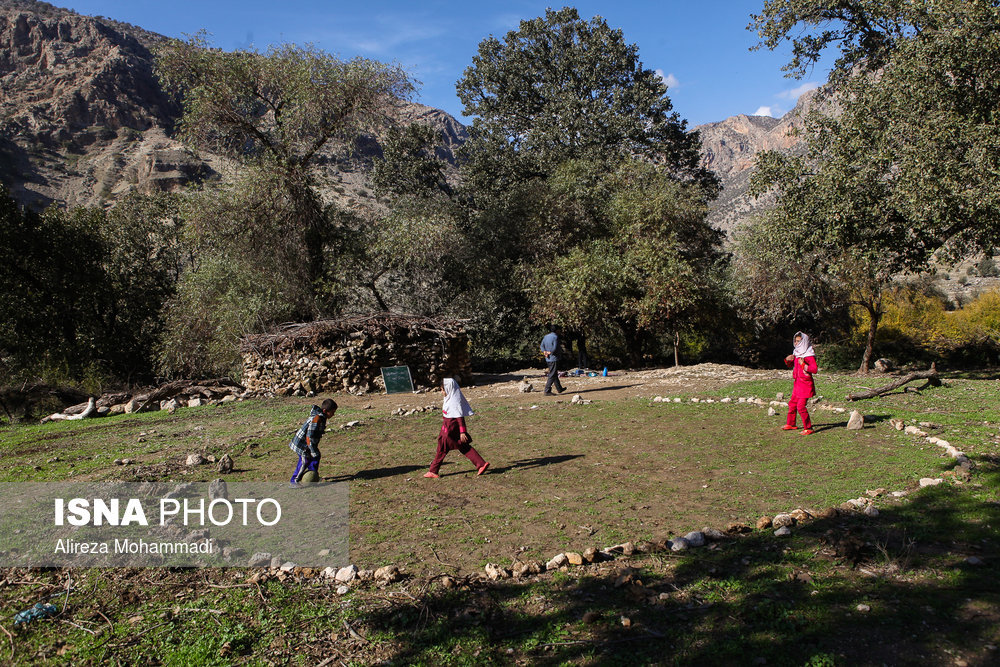
{"type": "Polygon", "coordinates": [[[709,219],[713,224],[731,232],[767,205],[766,198],[756,200],[747,195],[754,160],[767,150],[804,153],[799,131],[806,114],[817,105],[829,105],[819,89],[802,95],[795,108],[781,118],[740,114],[694,128],[701,136],[704,165],[718,174],[723,185],[722,194],[712,204],[709,219]]]}

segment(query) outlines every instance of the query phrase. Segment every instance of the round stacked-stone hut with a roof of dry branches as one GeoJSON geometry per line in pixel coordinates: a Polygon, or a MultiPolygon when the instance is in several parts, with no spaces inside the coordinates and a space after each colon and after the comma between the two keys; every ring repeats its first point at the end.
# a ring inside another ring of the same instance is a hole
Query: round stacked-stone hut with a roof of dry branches
{"type": "Polygon", "coordinates": [[[256,394],[385,390],[382,367],[409,366],[413,384],[472,381],[463,322],[381,314],[288,324],[241,345],[243,384],[256,394]]]}

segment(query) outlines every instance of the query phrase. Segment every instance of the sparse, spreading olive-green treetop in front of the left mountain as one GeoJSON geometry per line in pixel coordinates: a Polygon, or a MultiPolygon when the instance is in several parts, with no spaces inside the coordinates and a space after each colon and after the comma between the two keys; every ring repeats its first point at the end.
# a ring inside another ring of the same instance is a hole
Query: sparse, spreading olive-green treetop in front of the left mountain
{"type": "Polygon", "coordinates": [[[204,34],[170,40],[157,54],[164,86],[182,96],[181,136],[237,160],[260,157],[285,169],[312,165],[334,144],[352,147],[384,127],[413,83],[396,65],[341,60],[312,46],[266,53],[209,48],[204,34]]]}

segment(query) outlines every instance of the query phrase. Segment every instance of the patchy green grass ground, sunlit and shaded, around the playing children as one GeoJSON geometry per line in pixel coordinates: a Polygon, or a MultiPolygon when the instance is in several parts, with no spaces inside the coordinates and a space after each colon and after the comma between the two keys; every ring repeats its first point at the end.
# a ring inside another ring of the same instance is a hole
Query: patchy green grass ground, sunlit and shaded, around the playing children
{"type": "MultiPolygon", "coordinates": [[[[858,382],[822,376],[820,391],[851,407],[844,395],[858,382]]],[[[789,384],[671,395],[771,399],[789,384]]],[[[492,464],[482,477],[457,452],[441,479],[421,476],[440,413],[389,412],[399,401],[429,405],[439,400],[433,394],[348,398],[323,440],[323,476],[350,484],[352,561],[397,565],[403,582],[341,596],[325,580],[251,581],[256,571],[246,569],[8,569],[0,585],[7,619],[73,579],[60,617],[12,633],[14,661],[848,665],[1000,657],[996,374],[863,402],[868,426],[856,432],[844,428],[846,413],[814,409],[817,432],[808,437],[780,431],[783,415],[747,404],[654,403],[660,388],[594,394],[590,405],[478,392],[467,395],[477,410],[469,420],[475,445],[492,464]],[[973,459],[972,478],[951,477],[954,464],[940,448],[896,431],[890,418],[932,422],[927,430],[973,459]],[[353,420],[359,426],[337,428],[353,420]],[[942,476],[945,484],[915,490],[921,477],[942,476]],[[814,521],[784,540],[759,531],[711,550],[635,554],[524,581],[478,575],[488,562],[752,524],[875,488],[912,493],[877,501],[877,518],[814,521]],[[445,574],[457,585],[443,587],[445,574]]],[[[9,428],[0,431],[0,481],[215,477],[183,465],[194,451],[232,455],[229,480],[281,480],[294,463],[287,441],[307,408],[304,399],[248,401],[9,428]],[[114,465],[122,458],[135,463],[114,465]]]]}

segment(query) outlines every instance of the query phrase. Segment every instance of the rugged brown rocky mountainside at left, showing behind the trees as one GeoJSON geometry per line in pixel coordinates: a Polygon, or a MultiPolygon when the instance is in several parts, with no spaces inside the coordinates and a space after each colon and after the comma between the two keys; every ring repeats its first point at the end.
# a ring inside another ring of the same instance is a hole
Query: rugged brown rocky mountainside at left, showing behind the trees
{"type": "MultiPolygon", "coordinates": [[[[45,2],[0,0],[0,182],[33,207],[94,206],[224,171],[172,137],[180,108],[153,75],[152,50],[164,39],[45,2]]],[[[438,128],[441,157],[454,164],[467,136],[461,123],[420,104],[400,116],[438,128]]],[[[367,138],[350,159],[330,156],[331,198],[368,196],[365,173],[380,152],[367,138]]]]}

